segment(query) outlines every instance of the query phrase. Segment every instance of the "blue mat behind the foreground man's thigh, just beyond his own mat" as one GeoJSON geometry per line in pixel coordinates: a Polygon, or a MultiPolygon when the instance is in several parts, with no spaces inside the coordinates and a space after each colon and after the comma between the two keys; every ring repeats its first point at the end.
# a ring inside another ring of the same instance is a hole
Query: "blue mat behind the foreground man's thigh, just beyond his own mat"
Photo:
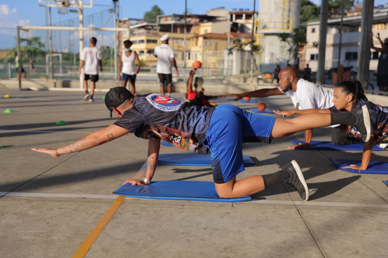
{"type": "MultiPolygon", "coordinates": [[[[243,155],[244,166],[254,167],[256,163],[253,162],[251,157],[243,155]]],[[[210,155],[202,155],[197,153],[169,153],[159,155],[159,164],[165,165],[177,165],[177,166],[210,166],[211,157],[210,155]]]]}

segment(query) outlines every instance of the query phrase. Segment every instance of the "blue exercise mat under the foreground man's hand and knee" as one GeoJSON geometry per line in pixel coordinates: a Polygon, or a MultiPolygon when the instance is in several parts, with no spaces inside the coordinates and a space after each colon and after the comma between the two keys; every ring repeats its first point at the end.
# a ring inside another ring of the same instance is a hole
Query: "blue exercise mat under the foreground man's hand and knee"
{"type": "Polygon", "coordinates": [[[216,192],[214,182],[204,181],[157,181],[148,186],[132,185],[120,186],[114,194],[147,199],[185,200],[185,201],[249,201],[251,196],[236,198],[220,198],[216,192]]]}

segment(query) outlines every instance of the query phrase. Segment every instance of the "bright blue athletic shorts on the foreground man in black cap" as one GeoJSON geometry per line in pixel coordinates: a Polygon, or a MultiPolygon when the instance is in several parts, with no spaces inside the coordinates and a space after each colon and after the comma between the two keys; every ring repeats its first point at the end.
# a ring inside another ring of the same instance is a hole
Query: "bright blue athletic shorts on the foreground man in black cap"
{"type": "Polygon", "coordinates": [[[275,117],[247,112],[234,105],[215,107],[203,144],[211,151],[213,179],[230,181],[245,170],[241,143],[270,143],[275,117]]]}

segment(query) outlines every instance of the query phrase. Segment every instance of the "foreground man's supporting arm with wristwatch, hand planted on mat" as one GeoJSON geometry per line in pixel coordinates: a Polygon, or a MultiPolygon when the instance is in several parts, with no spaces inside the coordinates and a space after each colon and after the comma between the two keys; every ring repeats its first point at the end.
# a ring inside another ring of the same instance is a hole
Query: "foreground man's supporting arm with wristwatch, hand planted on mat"
{"type": "MultiPolygon", "coordinates": [[[[154,176],[156,165],[158,165],[159,158],[159,150],[160,150],[160,139],[148,140],[148,158],[147,158],[147,169],[145,170],[145,178],[149,181],[152,180],[154,176]]],[[[132,183],[132,185],[144,186],[145,182],[143,180],[138,179],[128,179],[124,182],[132,183]]]]}

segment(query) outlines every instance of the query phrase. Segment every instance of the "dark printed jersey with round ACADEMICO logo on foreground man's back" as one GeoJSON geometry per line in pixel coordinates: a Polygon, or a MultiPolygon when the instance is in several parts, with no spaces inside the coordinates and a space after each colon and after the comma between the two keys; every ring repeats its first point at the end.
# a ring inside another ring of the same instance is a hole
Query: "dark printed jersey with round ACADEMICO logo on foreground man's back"
{"type": "Polygon", "coordinates": [[[135,95],[132,108],[114,124],[143,139],[162,139],[184,150],[207,154],[203,145],[214,108],[194,106],[157,93],[135,95]]]}

